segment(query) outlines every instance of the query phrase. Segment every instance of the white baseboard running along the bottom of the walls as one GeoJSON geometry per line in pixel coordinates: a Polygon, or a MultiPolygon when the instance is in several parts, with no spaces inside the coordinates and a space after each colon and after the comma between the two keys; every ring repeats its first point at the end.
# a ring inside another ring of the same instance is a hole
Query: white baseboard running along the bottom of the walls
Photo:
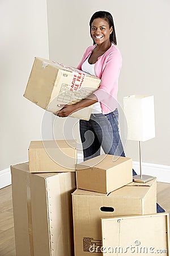
{"type": "MultiPolygon", "coordinates": [[[[78,163],[83,161],[83,155],[78,154],[78,163]]],[[[137,174],[140,173],[139,162],[133,162],[133,168],[137,174]]],[[[170,166],[162,164],[142,163],[142,174],[157,177],[157,181],[170,183],[170,166]]],[[[0,171],[0,189],[11,185],[10,167],[0,171]]]]}

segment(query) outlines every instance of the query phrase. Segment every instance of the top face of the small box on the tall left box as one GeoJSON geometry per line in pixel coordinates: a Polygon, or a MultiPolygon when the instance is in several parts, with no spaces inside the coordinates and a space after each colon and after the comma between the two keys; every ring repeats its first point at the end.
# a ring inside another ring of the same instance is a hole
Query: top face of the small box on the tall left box
{"type": "Polygon", "coordinates": [[[29,144],[29,149],[37,148],[74,148],[76,149],[76,140],[69,139],[57,140],[57,141],[31,141],[29,144]]]}

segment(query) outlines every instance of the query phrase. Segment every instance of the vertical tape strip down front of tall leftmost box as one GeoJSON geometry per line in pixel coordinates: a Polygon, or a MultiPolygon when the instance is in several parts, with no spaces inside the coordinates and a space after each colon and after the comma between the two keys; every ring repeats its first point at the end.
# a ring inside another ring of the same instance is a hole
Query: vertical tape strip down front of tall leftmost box
{"type": "Polygon", "coordinates": [[[34,256],[33,251],[33,234],[32,234],[32,209],[31,209],[31,175],[28,174],[26,178],[27,188],[27,213],[28,213],[28,234],[29,234],[29,245],[31,256],[34,256]]]}

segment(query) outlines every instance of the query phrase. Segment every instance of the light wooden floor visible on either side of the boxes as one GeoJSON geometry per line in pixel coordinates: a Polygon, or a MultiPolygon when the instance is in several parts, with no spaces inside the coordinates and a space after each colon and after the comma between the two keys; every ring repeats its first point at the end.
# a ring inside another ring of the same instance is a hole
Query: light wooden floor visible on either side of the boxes
{"type": "MultiPolygon", "coordinates": [[[[170,213],[169,183],[158,182],[157,201],[170,213]]],[[[0,256],[16,256],[11,185],[0,189],[0,256]]]]}

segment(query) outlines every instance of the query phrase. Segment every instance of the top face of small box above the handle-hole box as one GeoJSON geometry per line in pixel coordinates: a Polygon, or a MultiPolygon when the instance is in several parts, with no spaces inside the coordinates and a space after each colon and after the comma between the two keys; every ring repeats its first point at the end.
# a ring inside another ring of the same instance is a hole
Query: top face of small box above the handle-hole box
{"type": "Polygon", "coordinates": [[[108,170],[109,168],[118,166],[128,160],[131,160],[131,158],[103,154],[77,164],[77,169],[79,170],[88,167],[95,167],[103,170],[108,170]]]}

